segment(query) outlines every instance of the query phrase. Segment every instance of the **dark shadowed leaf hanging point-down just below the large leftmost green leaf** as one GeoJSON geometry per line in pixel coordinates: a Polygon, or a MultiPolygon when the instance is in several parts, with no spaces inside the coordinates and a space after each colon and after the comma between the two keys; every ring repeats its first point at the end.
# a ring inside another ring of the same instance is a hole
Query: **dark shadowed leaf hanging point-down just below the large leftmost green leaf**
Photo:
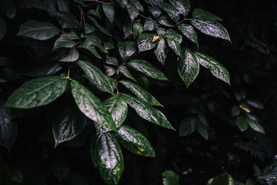
{"type": "Polygon", "coordinates": [[[86,118],[77,107],[65,107],[53,121],[55,147],[78,136],[84,129],[85,123],[86,118]]]}

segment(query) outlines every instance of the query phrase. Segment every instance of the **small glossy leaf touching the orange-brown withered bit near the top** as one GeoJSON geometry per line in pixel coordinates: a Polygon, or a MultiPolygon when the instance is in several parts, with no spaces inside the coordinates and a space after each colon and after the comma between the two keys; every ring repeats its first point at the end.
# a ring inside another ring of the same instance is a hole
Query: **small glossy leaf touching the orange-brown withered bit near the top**
{"type": "Polygon", "coordinates": [[[155,35],[153,33],[142,33],[137,39],[139,52],[148,51],[153,49],[156,45],[156,42],[152,42],[152,39],[155,35]]]}

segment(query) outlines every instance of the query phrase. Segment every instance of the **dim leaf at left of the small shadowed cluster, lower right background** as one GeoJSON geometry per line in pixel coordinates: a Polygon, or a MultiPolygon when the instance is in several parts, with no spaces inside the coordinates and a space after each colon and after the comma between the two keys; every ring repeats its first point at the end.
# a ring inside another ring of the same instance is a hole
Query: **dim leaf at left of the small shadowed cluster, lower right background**
{"type": "Polygon", "coordinates": [[[179,128],[179,136],[187,136],[195,132],[196,129],[197,118],[195,117],[188,117],[181,121],[180,128],[179,128]]]}

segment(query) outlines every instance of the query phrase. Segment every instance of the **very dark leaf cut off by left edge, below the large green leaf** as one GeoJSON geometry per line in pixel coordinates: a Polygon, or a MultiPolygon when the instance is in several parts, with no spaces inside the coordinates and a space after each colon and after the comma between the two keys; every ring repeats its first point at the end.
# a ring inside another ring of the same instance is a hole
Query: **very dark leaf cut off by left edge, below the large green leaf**
{"type": "Polygon", "coordinates": [[[18,127],[12,120],[12,111],[4,107],[0,100],[0,145],[10,150],[17,139],[17,132],[18,127]]]}

